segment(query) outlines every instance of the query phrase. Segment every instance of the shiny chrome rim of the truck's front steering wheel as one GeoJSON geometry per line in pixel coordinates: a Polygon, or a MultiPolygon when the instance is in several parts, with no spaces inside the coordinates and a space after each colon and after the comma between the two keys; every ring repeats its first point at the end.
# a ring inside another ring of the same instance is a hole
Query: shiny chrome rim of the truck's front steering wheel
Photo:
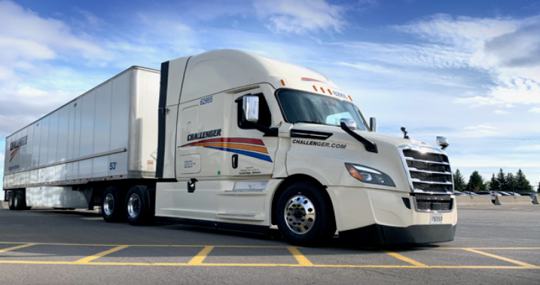
{"type": "Polygon", "coordinates": [[[296,195],[285,205],[285,224],[295,234],[307,234],[315,224],[315,206],[304,195],[296,195]]]}

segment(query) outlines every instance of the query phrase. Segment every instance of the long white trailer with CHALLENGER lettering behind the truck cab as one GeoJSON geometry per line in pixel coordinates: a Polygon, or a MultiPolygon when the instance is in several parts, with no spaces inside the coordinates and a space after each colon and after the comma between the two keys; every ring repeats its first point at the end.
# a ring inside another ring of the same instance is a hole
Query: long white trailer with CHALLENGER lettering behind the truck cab
{"type": "Polygon", "coordinates": [[[11,208],[92,209],[102,185],[155,180],[159,78],[133,66],[8,136],[11,208]]]}

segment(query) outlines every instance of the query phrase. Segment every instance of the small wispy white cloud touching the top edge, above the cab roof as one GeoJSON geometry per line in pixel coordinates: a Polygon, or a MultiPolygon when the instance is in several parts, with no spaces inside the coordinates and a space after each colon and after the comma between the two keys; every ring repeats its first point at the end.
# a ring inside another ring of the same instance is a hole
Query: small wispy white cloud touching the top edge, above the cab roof
{"type": "Polygon", "coordinates": [[[345,6],[328,4],[324,0],[258,0],[253,2],[257,14],[270,23],[277,33],[302,34],[307,31],[341,31],[345,6]]]}

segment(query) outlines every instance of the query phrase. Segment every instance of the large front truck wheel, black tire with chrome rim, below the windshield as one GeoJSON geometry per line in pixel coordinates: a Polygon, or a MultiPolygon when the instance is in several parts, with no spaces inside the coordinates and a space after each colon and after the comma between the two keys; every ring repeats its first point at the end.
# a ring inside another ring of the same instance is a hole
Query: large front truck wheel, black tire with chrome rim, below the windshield
{"type": "Polygon", "coordinates": [[[277,228],[291,244],[320,246],[335,233],[334,210],[322,191],[300,182],[288,186],[277,200],[277,228]]]}

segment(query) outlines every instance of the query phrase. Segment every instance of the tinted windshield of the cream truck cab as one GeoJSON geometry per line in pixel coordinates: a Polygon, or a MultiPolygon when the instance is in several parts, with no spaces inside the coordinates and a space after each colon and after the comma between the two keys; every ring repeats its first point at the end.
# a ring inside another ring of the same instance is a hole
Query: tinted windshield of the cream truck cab
{"type": "Polygon", "coordinates": [[[292,89],[276,92],[285,120],[289,123],[312,123],[340,126],[340,119],[352,119],[357,129],[367,130],[355,105],[329,96],[292,89]]]}

